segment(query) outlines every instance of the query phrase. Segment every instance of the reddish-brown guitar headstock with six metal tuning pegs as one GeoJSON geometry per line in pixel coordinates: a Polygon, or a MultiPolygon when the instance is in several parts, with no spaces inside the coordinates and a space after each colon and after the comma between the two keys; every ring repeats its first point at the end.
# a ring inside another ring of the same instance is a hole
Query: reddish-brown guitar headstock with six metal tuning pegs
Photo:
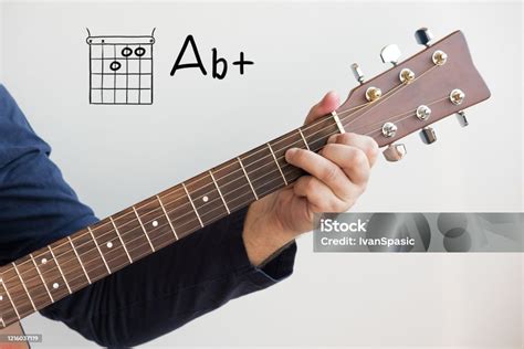
{"type": "Polygon", "coordinates": [[[385,156],[390,161],[406,154],[402,145],[392,145],[396,140],[421,130],[422,139],[431,144],[437,138],[429,125],[457,113],[465,126],[463,109],[491,95],[473,65],[461,31],[431,45],[427,29],[418,30],[416,36],[427,46],[425,50],[397,63],[398,47],[386,46],[380,55],[394,66],[369,81],[364,81],[360,68],[354,64],[360,85],[336,110],[347,131],[368,135],[380,147],[389,145],[385,156]]]}

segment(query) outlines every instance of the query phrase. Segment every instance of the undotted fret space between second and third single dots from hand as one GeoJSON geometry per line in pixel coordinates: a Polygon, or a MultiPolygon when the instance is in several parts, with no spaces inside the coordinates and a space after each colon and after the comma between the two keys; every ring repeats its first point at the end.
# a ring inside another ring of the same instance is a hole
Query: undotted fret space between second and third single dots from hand
{"type": "Polygon", "coordinates": [[[113,222],[133,261],[151,253],[153,248],[133,208],[113,214],[113,222]]]}

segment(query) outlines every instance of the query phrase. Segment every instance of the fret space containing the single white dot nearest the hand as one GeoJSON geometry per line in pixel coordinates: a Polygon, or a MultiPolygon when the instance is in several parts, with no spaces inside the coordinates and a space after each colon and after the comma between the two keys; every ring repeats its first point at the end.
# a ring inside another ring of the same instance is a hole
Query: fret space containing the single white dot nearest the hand
{"type": "Polygon", "coordinates": [[[228,210],[220,199],[220,194],[209,172],[191,178],[186,181],[185,186],[205,225],[228,215],[228,210]]]}

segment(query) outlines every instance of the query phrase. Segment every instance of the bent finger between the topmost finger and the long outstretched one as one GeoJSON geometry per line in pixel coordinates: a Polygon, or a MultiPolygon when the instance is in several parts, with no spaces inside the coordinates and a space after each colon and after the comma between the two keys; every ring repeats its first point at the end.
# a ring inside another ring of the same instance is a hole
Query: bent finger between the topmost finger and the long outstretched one
{"type": "Polygon", "coordinates": [[[360,187],[366,186],[369,179],[370,165],[361,149],[353,146],[328,144],[318,154],[342,168],[352,182],[360,187]]]}

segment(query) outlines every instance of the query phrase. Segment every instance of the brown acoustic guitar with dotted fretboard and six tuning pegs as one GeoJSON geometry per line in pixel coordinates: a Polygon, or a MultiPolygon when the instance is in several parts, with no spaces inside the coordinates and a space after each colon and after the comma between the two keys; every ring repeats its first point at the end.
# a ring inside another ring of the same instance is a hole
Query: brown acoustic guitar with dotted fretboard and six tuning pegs
{"type": "Polygon", "coordinates": [[[359,85],[333,113],[1,266],[0,329],[293,183],[303,172],[284,160],[291,147],[318,151],[329,136],[352,131],[397,161],[406,155],[398,139],[420,130],[431,144],[430,125],[453,114],[465,126],[463,110],[490,91],[464,35],[431,43],[420,29],[416,38],[425,49],[404,62],[396,45],[384,47],[392,66],[371,80],[354,64],[359,85]]]}

